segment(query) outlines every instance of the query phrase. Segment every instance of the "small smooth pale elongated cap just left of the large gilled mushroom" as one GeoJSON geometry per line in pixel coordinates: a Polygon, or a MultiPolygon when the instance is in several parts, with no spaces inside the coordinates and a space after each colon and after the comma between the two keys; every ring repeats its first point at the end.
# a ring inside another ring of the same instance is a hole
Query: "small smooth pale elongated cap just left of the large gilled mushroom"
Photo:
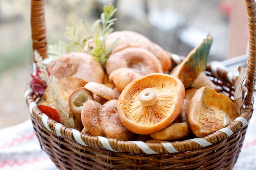
{"type": "Polygon", "coordinates": [[[111,100],[116,99],[116,93],[104,84],[99,84],[97,82],[88,82],[84,86],[88,91],[103,97],[104,99],[111,100]]]}

